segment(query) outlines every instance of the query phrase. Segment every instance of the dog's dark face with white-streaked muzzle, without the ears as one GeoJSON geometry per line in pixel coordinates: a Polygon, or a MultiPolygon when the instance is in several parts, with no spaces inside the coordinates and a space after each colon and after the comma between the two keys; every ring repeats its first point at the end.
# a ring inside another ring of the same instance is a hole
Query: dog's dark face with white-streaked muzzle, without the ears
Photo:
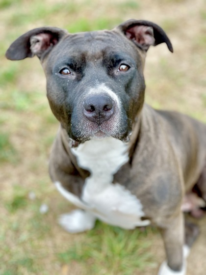
{"type": "Polygon", "coordinates": [[[71,138],[122,139],[131,131],[145,86],[141,52],[125,39],[114,31],[69,35],[48,56],[47,96],[71,138]]]}

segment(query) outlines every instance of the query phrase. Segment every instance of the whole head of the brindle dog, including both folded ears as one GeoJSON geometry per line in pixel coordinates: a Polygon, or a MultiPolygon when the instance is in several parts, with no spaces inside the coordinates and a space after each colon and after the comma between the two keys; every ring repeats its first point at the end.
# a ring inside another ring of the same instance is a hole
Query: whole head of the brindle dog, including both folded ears
{"type": "Polygon", "coordinates": [[[172,52],[165,32],[148,21],[76,34],[42,27],[14,41],[6,57],[39,57],[52,112],[70,138],[124,139],[143,106],[146,52],[163,42],[172,52]]]}

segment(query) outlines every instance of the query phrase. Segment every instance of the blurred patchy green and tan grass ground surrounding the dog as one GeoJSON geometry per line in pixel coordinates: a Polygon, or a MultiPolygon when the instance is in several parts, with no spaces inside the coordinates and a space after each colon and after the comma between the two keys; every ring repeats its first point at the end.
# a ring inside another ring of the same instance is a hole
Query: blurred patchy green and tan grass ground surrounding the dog
{"type": "MultiPolygon", "coordinates": [[[[58,215],[74,207],[56,192],[48,159],[58,122],[46,98],[37,57],[6,60],[26,31],[110,29],[130,19],[153,21],[170,37],[151,47],[146,102],[206,122],[206,0],[0,0],[0,275],[151,275],[164,259],[155,228],[125,231],[97,222],[70,235],[58,215]]],[[[206,219],[187,275],[206,274],[206,219]],[[205,235],[204,235],[205,234],[205,235]]]]}

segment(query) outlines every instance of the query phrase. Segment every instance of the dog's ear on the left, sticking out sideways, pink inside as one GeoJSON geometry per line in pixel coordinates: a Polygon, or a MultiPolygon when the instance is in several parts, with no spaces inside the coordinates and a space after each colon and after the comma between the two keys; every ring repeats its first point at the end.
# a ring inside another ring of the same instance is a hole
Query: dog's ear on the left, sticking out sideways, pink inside
{"type": "Polygon", "coordinates": [[[21,60],[37,55],[39,58],[66,35],[66,30],[57,27],[39,27],[32,29],[15,40],[6,52],[6,58],[21,60]]]}

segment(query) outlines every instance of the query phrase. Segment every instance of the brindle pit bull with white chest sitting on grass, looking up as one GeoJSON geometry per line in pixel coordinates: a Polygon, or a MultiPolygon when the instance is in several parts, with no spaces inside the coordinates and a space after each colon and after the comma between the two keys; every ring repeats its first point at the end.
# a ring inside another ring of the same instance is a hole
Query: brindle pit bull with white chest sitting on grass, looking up
{"type": "Polygon", "coordinates": [[[194,185],[206,200],[206,125],[144,103],[146,53],[160,43],[173,52],[162,28],[148,21],[76,34],[41,27],[14,41],[6,57],[37,55],[45,71],[60,122],[50,175],[80,208],[62,215],[62,226],[76,233],[96,219],[126,229],[154,224],[166,251],[158,275],[185,275],[197,234],[185,243],[181,207],[194,185]]]}

